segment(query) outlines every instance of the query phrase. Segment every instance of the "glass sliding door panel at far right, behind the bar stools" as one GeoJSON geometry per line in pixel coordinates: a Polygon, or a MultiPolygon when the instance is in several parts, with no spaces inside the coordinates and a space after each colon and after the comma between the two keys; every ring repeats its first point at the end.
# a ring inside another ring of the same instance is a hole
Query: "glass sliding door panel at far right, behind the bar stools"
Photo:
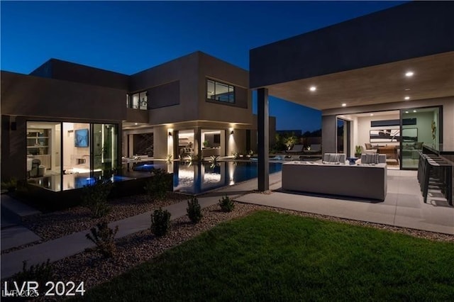
{"type": "Polygon", "coordinates": [[[408,108],[401,112],[402,169],[417,169],[423,145],[438,149],[440,143],[440,108],[408,108]]]}

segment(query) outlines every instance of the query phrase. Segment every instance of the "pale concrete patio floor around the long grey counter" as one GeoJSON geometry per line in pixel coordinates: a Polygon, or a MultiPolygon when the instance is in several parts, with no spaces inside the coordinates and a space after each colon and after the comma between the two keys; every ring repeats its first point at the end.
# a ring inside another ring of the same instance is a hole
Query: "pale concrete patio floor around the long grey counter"
{"type": "MultiPolygon", "coordinates": [[[[454,207],[441,192],[429,191],[428,201],[423,203],[416,171],[388,169],[387,176],[384,201],[284,192],[280,172],[270,175],[271,194],[251,193],[236,201],[454,235],[454,207]]],[[[327,179],[327,186],[329,181],[336,179],[327,179]]]]}

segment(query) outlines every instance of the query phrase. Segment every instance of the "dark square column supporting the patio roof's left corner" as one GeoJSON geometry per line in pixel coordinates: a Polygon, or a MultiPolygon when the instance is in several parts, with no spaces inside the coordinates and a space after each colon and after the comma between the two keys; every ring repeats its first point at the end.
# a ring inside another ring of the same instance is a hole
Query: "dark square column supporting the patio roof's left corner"
{"type": "Polygon", "coordinates": [[[270,189],[268,145],[269,145],[269,113],[268,113],[268,89],[257,90],[257,128],[258,128],[258,191],[270,189]]]}

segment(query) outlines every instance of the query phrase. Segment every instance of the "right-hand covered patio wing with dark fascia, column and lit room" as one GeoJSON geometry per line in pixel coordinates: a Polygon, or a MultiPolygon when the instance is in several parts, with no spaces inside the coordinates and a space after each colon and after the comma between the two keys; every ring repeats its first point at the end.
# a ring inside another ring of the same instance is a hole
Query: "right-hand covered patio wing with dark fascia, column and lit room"
{"type": "Polygon", "coordinates": [[[454,161],[453,16],[452,1],[414,1],[250,50],[259,190],[268,95],[321,110],[323,153],[360,145],[416,169],[426,145],[454,161]]]}

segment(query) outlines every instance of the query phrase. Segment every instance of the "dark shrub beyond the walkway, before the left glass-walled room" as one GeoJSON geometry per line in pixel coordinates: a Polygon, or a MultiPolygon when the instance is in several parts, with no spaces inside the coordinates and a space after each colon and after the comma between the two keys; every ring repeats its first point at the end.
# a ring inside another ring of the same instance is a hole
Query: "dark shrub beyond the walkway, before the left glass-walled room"
{"type": "Polygon", "coordinates": [[[109,214],[111,207],[107,202],[107,196],[112,186],[110,179],[96,179],[94,184],[84,186],[82,205],[89,208],[93,218],[101,218],[109,214]]]}

